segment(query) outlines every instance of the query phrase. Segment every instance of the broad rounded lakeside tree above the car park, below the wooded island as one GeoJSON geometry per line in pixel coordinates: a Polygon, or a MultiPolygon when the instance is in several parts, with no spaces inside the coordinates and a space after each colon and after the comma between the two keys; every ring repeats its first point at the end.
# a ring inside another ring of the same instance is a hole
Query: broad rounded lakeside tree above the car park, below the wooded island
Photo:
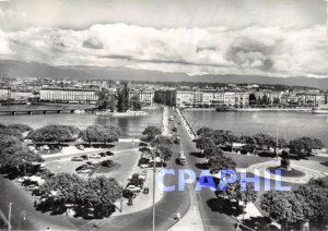
{"type": "Polygon", "coordinates": [[[91,143],[110,143],[117,142],[120,135],[120,130],[113,125],[101,126],[101,125],[91,125],[86,130],[82,131],[79,134],[79,137],[84,142],[91,143]]]}

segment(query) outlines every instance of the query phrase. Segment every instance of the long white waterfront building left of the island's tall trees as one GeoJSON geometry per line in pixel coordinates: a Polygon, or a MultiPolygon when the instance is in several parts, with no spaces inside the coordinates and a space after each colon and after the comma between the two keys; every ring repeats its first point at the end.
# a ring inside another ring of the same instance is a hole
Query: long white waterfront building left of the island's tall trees
{"type": "Polygon", "coordinates": [[[96,104],[98,97],[95,89],[77,88],[42,88],[39,90],[40,101],[72,102],[72,104],[96,104]]]}

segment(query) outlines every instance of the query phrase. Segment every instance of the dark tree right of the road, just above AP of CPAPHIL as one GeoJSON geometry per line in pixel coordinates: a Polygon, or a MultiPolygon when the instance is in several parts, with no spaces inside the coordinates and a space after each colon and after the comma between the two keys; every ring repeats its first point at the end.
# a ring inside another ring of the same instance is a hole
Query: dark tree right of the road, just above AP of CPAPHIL
{"type": "Polygon", "coordinates": [[[235,170],[236,162],[224,155],[211,156],[209,159],[209,168],[212,173],[218,173],[221,170],[235,170]]]}

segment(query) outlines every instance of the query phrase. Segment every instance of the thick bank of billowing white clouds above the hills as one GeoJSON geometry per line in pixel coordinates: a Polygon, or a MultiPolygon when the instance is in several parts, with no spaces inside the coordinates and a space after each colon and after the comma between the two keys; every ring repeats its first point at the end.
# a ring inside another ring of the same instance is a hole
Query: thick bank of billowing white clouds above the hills
{"type": "Polygon", "coordinates": [[[95,24],[1,32],[0,56],[51,65],[126,66],[194,74],[325,77],[325,26],[162,28],[95,24]]]}

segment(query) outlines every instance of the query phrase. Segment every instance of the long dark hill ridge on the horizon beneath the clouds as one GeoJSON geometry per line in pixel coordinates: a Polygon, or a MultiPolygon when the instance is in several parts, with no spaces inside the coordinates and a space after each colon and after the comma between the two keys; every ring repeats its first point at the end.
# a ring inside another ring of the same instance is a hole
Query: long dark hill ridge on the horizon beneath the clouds
{"type": "Polygon", "coordinates": [[[207,82],[207,83],[257,83],[308,86],[328,89],[328,78],[315,77],[268,77],[260,75],[192,75],[127,68],[52,66],[37,62],[0,60],[0,77],[43,77],[77,80],[126,80],[148,82],[207,82]]]}

